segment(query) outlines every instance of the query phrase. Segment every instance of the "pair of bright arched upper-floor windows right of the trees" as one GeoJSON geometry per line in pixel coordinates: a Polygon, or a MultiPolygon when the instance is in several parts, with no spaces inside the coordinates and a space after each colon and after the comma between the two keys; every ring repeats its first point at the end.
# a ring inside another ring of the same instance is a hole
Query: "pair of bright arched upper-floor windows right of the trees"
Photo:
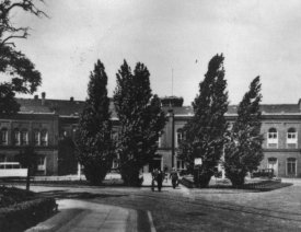
{"type": "MultiPolygon", "coordinates": [[[[267,132],[267,147],[278,148],[279,136],[276,128],[269,128],[267,132]]],[[[287,147],[298,148],[298,132],[294,128],[289,128],[287,131],[287,147]]]]}

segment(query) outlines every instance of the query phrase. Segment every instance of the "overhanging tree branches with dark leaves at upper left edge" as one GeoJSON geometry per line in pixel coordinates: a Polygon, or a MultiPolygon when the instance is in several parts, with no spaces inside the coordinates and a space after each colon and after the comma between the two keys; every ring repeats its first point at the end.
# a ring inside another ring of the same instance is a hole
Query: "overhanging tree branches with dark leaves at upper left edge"
{"type": "Polygon", "coordinates": [[[27,38],[28,27],[18,27],[12,22],[12,12],[21,10],[36,16],[46,15],[37,7],[42,0],[3,0],[0,2],[0,73],[8,81],[0,83],[0,114],[13,114],[19,111],[15,93],[34,93],[40,85],[40,73],[34,63],[15,49],[14,39],[27,38]]]}

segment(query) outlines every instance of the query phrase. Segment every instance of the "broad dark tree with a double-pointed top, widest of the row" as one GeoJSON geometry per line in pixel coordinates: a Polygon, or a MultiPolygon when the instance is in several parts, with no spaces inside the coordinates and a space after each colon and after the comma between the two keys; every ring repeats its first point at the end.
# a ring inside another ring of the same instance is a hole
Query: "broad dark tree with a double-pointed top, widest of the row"
{"type": "Polygon", "coordinates": [[[166,117],[160,98],[152,94],[150,73],[143,63],[138,62],[132,73],[124,61],[116,76],[114,103],[121,126],[119,169],[126,185],[138,186],[139,171],[153,159],[166,117]]]}

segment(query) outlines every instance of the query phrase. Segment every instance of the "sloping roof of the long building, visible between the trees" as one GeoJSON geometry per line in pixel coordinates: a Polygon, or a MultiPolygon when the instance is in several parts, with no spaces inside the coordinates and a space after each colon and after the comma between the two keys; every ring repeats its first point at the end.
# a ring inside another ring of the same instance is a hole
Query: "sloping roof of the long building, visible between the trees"
{"type": "MultiPolygon", "coordinates": [[[[49,100],[46,98],[45,103],[40,98],[16,98],[21,105],[20,113],[28,114],[58,114],[61,117],[77,117],[82,112],[84,101],[76,100],[49,100]]],[[[117,117],[114,111],[113,101],[111,101],[109,109],[112,117],[117,117]]],[[[170,107],[164,106],[163,111],[167,113],[170,107]]],[[[228,107],[227,115],[235,115],[238,111],[236,105],[230,105],[228,107]]],[[[263,115],[294,115],[300,114],[301,111],[299,104],[263,104],[261,105],[263,115]]],[[[177,106],[173,107],[173,112],[176,116],[192,116],[194,114],[192,106],[177,106]]]]}

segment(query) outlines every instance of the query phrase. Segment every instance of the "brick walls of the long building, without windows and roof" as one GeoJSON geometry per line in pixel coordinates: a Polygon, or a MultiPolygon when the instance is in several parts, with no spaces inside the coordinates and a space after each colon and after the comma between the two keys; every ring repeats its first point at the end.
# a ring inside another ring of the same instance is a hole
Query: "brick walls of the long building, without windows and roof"
{"type": "MultiPolygon", "coordinates": [[[[173,166],[177,166],[177,130],[183,128],[190,115],[173,115],[167,112],[167,123],[164,127],[164,131],[160,138],[160,148],[158,150],[159,156],[162,156],[162,167],[167,165],[171,170],[173,166]],[[173,150],[174,144],[174,150],[173,150]],[[174,159],[173,159],[174,154],[174,159]],[[174,160],[174,163],[172,163],[174,160]]],[[[227,117],[229,121],[234,120],[234,116],[227,117]]],[[[45,147],[36,147],[36,152],[40,156],[46,159],[46,170],[42,174],[56,175],[58,174],[58,160],[65,158],[62,152],[58,151],[58,142],[63,137],[70,137],[74,139],[78,126],[78,116],[59,116],[56,114],[18,114],[12,117],[3,117],[0,119],[1,128],[8,129],[8,144],[0,146],[1,155],[12,158],[23,149],[22,146],[13,144],[13,130],[14,128],[28,130],[28,143],[34,142],[33,131],[35,129],[47,129],[48,131],[48,144],[45,147]]],[[[117,132],[119,129],[118,121],[114,120],[114,130],[117,132]]],[[[261,167],[269,167],[269,159],[275,158],[277,160],[277,174],[278,176],[288,176],[288,159],[296,159],[297,176],[301,177],[301,116],[299,115],[271,115],[264,116],[262,124],[262,132],[264,135],[264,160],[261,163],[261,167]],[[278,134],[278,147],[269,148],[267,146],[267,136],[269,128],[275,128],[278,134]],[[289,128],[294,128],[297,131],[297,147],[288,147],[287,132],[289,128]]],[[[158,159],[158,156],[157,156],[158,159]]],[[[148,171],[148,167],[144,169],[148,171]]]]}

